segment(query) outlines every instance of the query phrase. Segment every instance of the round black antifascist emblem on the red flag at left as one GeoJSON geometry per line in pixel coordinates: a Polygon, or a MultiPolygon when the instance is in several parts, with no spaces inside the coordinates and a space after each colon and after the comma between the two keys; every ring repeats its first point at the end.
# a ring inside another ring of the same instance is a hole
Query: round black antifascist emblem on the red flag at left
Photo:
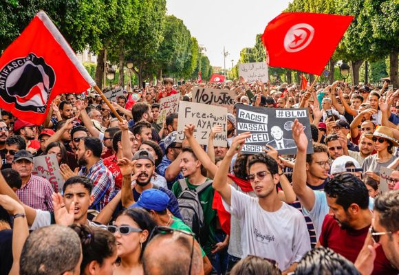
{"type": "Polygon", "coordinates": [[[10,61],[0,70],[1,98],[20,111],[45,113],[54,83],[52,67],[32,53],[10,61]]]}

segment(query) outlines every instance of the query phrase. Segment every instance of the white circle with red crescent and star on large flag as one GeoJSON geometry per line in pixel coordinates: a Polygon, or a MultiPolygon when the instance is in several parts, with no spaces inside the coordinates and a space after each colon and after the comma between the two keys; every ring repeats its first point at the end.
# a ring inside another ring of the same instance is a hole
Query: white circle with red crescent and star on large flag
{"type": "Polygon", "coordinates": [[[308,47],[314,36],[314,28],[306,23],[293,25],[284,37],[287,52],[299,52],[308,47]]]}

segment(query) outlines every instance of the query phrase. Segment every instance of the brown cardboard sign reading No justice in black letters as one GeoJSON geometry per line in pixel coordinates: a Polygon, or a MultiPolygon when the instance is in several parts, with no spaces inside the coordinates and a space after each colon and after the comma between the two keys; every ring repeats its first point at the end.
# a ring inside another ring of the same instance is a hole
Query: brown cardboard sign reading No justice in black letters
{"type": "Polygon", "coordinates": [[[193,102],[226,107],[229,113],[233,113],[235,91],[194,87],[193,102]]]}

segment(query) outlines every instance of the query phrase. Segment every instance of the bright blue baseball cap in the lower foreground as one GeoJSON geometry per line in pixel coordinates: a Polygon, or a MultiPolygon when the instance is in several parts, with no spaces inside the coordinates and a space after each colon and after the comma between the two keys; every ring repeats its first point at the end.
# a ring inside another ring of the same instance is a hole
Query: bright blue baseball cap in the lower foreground
{"type": "Polygon", "coordinates": [[[165,192],[151,188],[142,191],[138,201],[129,208],[141,207],[155,211],[163,211],[168,207],[169,200],[170,198],[165,192]]]}

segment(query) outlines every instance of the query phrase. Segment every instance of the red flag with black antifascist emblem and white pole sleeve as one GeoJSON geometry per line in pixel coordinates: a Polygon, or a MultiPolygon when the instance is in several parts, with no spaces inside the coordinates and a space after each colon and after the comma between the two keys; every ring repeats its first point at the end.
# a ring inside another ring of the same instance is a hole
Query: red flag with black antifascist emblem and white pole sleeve
{"type": "Polygon", "coordinates": [[[43,11],[0,57],[0,106],[33,124],[43,123],[59,94],[83,93],[94,85],[43,11]]]}

